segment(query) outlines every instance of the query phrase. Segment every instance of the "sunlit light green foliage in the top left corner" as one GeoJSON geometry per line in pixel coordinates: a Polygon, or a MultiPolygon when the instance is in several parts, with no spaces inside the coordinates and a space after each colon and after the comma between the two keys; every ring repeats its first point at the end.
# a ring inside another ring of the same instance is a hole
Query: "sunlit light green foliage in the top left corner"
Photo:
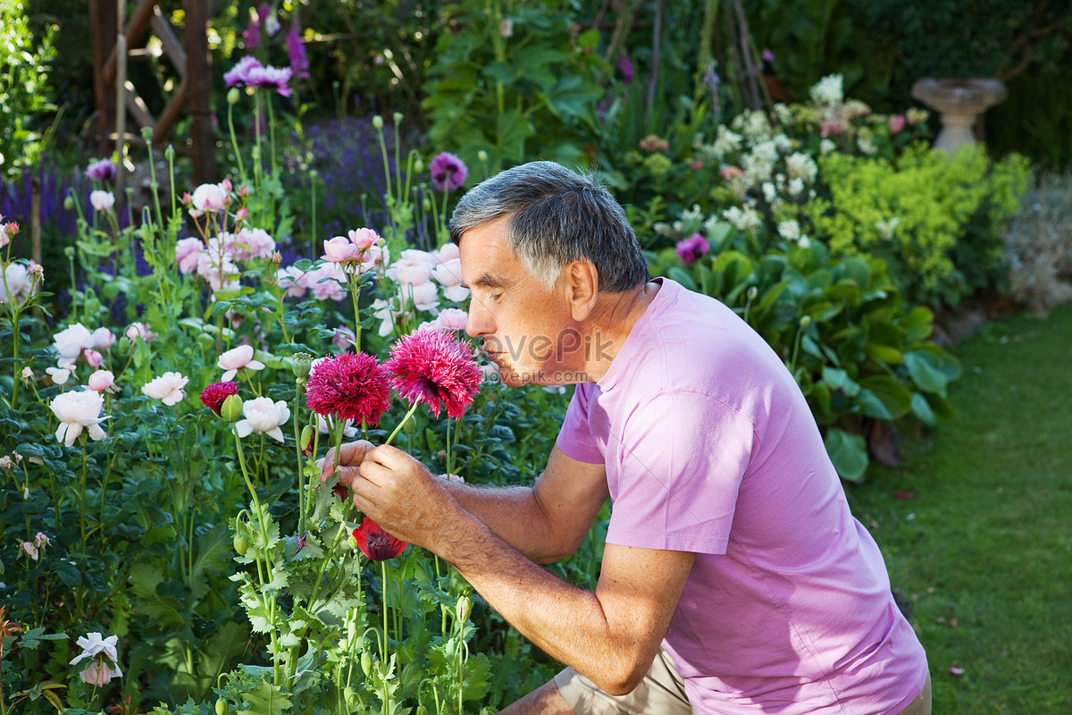
{"type": "Polygon", "coordinates": [[[56,105],[48,65],[56,55],[55,28],[34,35],[17,0],[0,1],[0,177],[36,166],[56,105]]]}

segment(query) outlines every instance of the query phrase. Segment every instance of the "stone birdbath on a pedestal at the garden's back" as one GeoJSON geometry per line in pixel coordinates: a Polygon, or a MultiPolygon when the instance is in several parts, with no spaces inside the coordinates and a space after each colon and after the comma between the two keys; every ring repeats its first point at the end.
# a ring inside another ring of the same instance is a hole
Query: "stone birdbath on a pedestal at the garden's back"
{"type": "Polygon", "coordinates": [[[941,115],[941,132],[934,148],[950,157],[965,144],[976,140],[972,126],[979,116],[1006,99],[1000,79],[920,79],[912,85],[912,96],[941,115]]]}

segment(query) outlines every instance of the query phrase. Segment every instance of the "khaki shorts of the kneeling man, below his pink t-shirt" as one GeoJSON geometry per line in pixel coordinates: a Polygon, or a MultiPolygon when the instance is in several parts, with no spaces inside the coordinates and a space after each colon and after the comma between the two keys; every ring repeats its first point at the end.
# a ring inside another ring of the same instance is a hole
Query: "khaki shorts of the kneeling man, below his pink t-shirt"
{"type": "MultiPolygon", "coordinates": [[[[699,715],[685,696],[685,684],[673,661],[661,649],[647,675],[629,695],[608,695],[572,668],[555,675],[554,684],[577,715],[699,715]]],[[[896,715],[930,715],[929,674],[920,695],[896,715]]]]}

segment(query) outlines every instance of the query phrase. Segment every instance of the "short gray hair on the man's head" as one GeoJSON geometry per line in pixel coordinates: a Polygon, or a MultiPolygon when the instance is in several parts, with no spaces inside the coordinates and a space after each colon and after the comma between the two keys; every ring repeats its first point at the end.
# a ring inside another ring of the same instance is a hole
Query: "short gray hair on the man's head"
{"type": "Polygon", "coordinates": [[[458,202],[450,240],[504,215],[506,245],[550,288],[562,267],[587,260],[599,291],[621,293],[649,280],[647,262],[625,211],[591,174],[530,162],[485,179],[458,202]]]}

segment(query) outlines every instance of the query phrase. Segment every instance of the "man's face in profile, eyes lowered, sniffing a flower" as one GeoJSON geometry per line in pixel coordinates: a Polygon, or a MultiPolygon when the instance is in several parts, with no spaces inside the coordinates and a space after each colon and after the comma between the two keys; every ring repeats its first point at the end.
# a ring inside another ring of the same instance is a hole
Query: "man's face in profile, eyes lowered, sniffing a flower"
{"type": "Polygon", "coordinates": [[[579,336],[559,289],[545,288],[506,245],[502,217],[466,230],[459,244],[462,281],[473,292],[466,332],[483,339],[489,357],[507,385],[560,385],[570,376],[579,336]]]}

